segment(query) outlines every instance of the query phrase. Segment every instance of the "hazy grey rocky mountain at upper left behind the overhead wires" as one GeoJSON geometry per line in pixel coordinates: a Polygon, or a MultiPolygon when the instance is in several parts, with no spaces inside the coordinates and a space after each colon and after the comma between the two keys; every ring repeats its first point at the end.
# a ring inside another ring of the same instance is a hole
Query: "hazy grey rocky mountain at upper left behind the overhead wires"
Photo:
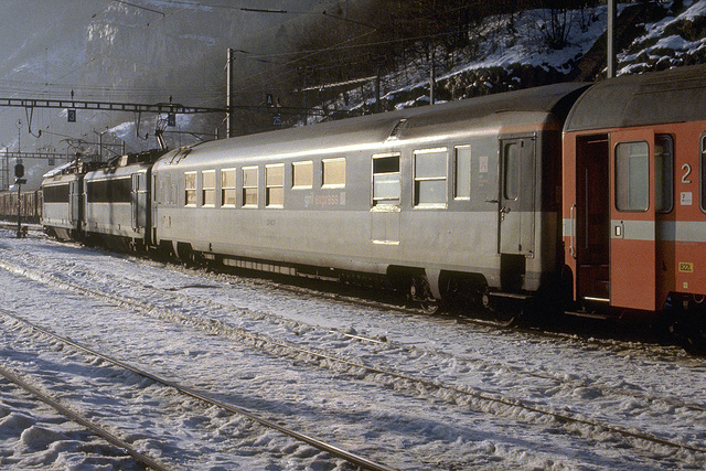
{"type": "MultiPolygon", "coordinates": [[[[172,99],[223,107],[228,47],[245,47],[248,38],[329,3],[269,0],[215,8],[163,0],[0,2],[0,97],[145,104],[172,99]],[[284,8],[292,14],[257,14],[240,7],[284,8]]],[[[78,110],[76,122],[69,124],[65,109],[38,108],[30,114],[0,108],[0,150],[92,154],[98,153],[101,133],[104,142],[125,140],[128,151],[154,148],[159,117],[140,116],[139,136],[137,118],[78,110]]],[[[170,147],[213,139],[222,120],[223,116],[179,117],[170,130],[195,136],[167,133],[165,139],[170,147]]],[[[104,152],[110,153],[107,148],[104,152]]],[[[46,160],[24,164],[28,188],[36,186],[47,170],[46,160]]]]}

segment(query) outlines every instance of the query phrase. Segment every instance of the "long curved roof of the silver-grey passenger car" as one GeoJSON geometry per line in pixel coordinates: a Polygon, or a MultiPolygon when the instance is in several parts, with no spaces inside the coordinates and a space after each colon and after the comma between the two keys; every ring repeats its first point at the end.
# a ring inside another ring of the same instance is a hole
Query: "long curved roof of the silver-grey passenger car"
{"type": "Polygon", "coordinates": [[[170,152],[160,165],[215,163],[234,156],[253,158],[315,154],[345,149],[382,149],[405,140],[471,133],[505,126],[561,122],[587,84],[564,83],[459,101],[342,119],[313,126],[208,141],[170,152]]]}

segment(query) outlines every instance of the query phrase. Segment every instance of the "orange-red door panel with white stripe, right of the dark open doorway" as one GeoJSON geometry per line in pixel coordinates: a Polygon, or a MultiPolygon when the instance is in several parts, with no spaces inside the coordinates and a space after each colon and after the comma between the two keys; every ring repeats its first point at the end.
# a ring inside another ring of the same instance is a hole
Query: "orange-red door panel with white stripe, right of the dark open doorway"
{"type": "Polygon", "coordinates": [[[654,132],[612,132],[610,142],[610,304],[654,311],[654,132]]]}

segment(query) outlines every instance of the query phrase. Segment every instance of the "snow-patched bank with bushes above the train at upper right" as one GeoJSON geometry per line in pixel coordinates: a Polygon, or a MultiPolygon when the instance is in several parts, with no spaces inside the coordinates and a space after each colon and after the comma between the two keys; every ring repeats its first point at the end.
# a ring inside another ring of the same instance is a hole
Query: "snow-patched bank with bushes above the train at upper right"
{"type": "MultiPolygon", "coordinates": [[[[706,62],[706,1],[664,1],[619,6],[618,75],[659,71],[706,62]]],[[[477,57],[443,68],[437,64],[437,100],[462,99],[549,83],[605,78],[605,6],[574,11],[567,45],[544,45],[547,10],[528,10],[514,19],[490,18],[482,32],[477,57]],[[539,26],[537,26],[539,25],[539,26]]],[[[429,103],[429,63],[410,67],[383,79],[388,85],[384,109],[429,103]]],[[[372,109],[372,90],[366,101],[352,108],[372,109]]],[[[352,101],[350,97],[346,99],[352,101]]],[[[343,99],[338,105],[344,103],[343,99]]]]}

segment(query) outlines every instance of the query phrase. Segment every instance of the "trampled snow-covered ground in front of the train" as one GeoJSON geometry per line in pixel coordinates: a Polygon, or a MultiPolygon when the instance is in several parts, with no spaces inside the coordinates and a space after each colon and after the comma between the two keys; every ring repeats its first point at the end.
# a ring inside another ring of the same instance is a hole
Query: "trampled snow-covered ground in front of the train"
{"type": "MultiPolygon", "coordinates": [[[[676,347],[503,331],[10,231],[0,300],[1,367],[175,469],[352,467],[4,313],[392,468],[706,467],[706,364],[676,347]]],[[[0,379],[0,468],[140,467],[0,379]]]]}

